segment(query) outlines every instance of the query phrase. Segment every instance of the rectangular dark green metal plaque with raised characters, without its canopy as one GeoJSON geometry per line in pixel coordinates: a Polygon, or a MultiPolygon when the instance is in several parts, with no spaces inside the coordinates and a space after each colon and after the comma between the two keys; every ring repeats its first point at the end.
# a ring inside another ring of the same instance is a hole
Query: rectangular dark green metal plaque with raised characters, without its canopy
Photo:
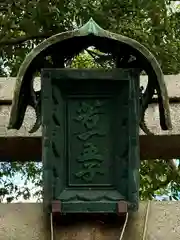
{"type": "Polygon", "coordinates": [[[44,202],[61,213],[138,209],[139,74],[44,69],[44,202]]]}

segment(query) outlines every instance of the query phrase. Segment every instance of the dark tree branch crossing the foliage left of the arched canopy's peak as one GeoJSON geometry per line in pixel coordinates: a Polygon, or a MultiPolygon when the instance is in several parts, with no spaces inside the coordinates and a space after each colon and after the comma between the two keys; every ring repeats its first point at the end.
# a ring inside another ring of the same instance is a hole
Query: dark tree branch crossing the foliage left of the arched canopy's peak
{"type": "Polygon", "coordinates": [[[31,36],[20,36],[17,38],[12,38],[9,40],[2,40],[0,41],[0,47],[6,46],[6,45],[17,45],[24,43],[28,40],[34,40],[34,39],[41,39],[41,38],[48,38],[53,35],[52,32],[47,32],[47,33],[38,33],[36,35],[31,35],[31,36]]]}

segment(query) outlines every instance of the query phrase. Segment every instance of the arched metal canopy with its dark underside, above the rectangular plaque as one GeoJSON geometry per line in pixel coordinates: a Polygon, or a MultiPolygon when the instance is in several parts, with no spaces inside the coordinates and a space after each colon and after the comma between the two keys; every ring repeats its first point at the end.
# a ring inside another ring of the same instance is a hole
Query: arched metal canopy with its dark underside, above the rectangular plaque
{"type": "MultiPolygon", "coordinates": [[[[125,49],[127,54],[129,54],[129,51],[131,55],[137,57],[138,67],[145,70],[149,76],[148,86],[143,96],[140,122],[143,121],[145,110],[152,99],[154,89],[157,89],[161,127],[163,130],[171,129],[167,89],[162,70],[155,57],[137,41],[102,29],[92,18],[80,29],[59,33],[46,39],[28,54],[17,75],[8,128],[19,129],[22,125],[27,105],[31,105],[35,108],[38,118],[38,126],[33,131],[37,130],[40,126],[41,114],[38,108],[38,97],[35,96],[32,87],[35,73],[44,67],[64,67],[64,59],[73,57],[87,47],[89,38],[92,39],[92,43],[97,45],[99,49],[102,48],[102,51],[114,51],[115,54],[120,56],[121,51],[123,52],[123,49],[125,49]],[[91,38],[91,36],[94,36],[94,38],[91,38]],[[105,42],[106,40],[109,44],[105,42]],[[115,47],[113,48],[113,46],[115,47]],[[60,54],[57,54],[58,51],[60,54]],[[49,55],[53,58],[52,65],[46,61],[46,56],[49,55]]],[[[122,66],[117,64],[117,67],[122,66]]]]}

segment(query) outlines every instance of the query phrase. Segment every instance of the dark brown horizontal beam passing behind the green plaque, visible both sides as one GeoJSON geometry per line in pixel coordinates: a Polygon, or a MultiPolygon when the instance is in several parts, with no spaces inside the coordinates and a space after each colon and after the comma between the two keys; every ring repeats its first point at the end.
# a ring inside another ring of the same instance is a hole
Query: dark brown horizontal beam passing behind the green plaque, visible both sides
{"type": "MultiPolygon", "coordinates": [[[[0,137],[0,161],[41,161],[41,137],[0,137]]],[[[141,160],[180,158],[180,135],[140,136],[141,160]]]]}

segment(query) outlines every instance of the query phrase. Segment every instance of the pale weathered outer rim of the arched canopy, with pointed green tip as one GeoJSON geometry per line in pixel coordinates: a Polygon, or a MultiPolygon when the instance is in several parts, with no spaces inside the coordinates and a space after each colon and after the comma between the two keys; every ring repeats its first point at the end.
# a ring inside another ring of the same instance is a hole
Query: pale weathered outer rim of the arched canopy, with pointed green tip
{"type": "Polygon", "coordinates": [[[55,46],[57,43],[61,44],[64,41],[68,41],[69,39],[73,39],[76,37],[88,37],[88,36],[98,37],[100,38],[100,41],[101,39],[107,39],[108,41],[110,41],[110,44],[112,43],[112,41],[116,41],[119,44],[124,44],[125,46],[135,50],[137,53],[139,53],[143,57],[143,59],[145,59],[148,62],[148,64],[151,66],[151,68],[153,69],[153,72],[156,75],[156,79],[157,79],[156,81],[160,88],[160,95],[161,95],[162,104],[164,108],[164,118],[165,118],[166,128],[171,129],[172,126],[171,126],[171,119],[170,119],[167,88],[164,82],[163,72],[156,58],[152,55],[152,53],[147,48],[145,48],[136,40],[122,36],[120,34],[106,31],[102,29],[92,18],[84,26],[82,26],[79,29],[62,32],[49,37],[48,39],[44,40],[39,45],[37,45],[37,47],[34,48],[27,55],[17,74],[8,128],[9,129],[14,128],[16,125],[16,121],[19,114],[18,106],[20,102],[20,95],[22,94],[21,92],[22,84],[25,81],[25,74],[29,70],[34,59],[36,59],[43,52],[47,51],[48,48],[55,46]]]}

